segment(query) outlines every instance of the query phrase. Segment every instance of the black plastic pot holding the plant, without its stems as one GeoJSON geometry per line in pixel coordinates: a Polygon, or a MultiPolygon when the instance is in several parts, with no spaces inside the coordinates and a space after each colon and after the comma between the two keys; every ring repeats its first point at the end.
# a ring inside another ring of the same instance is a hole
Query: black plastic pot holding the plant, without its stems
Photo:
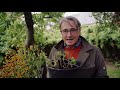
{"type": "Polygon", "coordinates": [[[76,78],[79,77],[79,66],[70,69],[55,69],[47,67],[50,78],[76,78]]]}

